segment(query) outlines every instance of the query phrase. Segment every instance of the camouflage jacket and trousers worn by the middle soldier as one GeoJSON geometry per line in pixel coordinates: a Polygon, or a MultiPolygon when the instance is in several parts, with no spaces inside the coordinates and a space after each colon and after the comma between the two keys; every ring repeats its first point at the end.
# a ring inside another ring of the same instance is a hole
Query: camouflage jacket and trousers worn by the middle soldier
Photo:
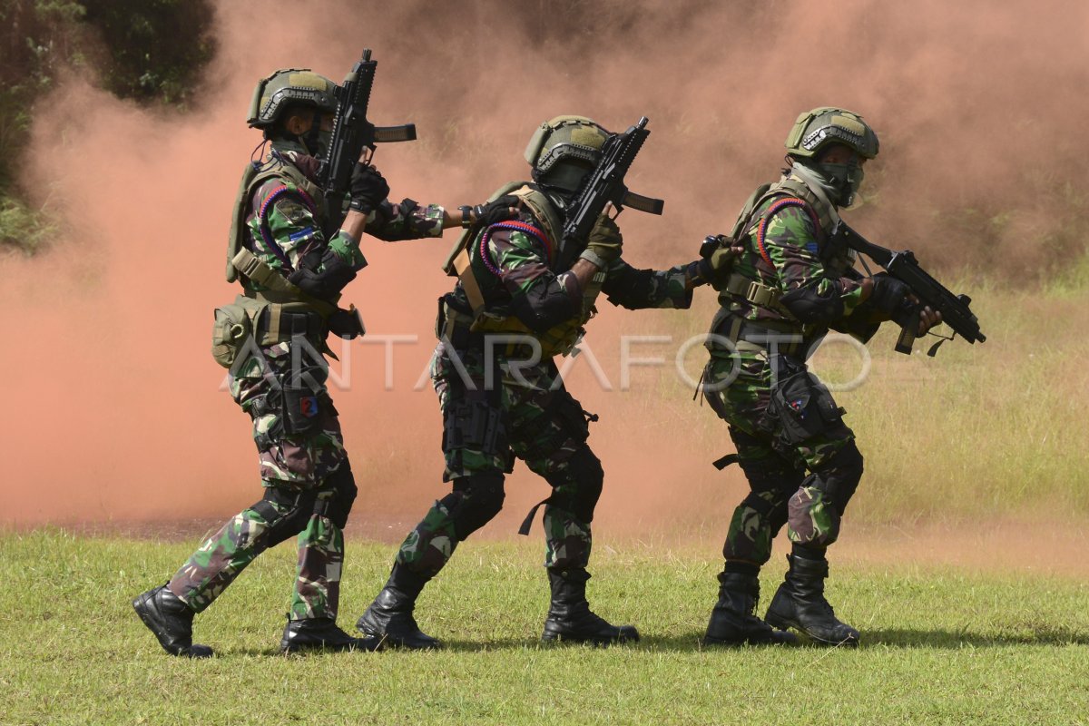
{"type": "MultiPolygon", "coordinates": [[[[518,222],[537,231],[542,226],[528,213],[518,222]]],[[[594,312],[599,290],[610,303],[628,309],[687,308],[692,303],[694,266],[636,270],[616,260],[584,291],[573,273],[558,269],[546,235],[510,229],[515,226],[481,231],[472,259],[488,270],[481,292],[489,313],[541,316],[537,332],[524,329],[513,335],[538,340],[546,357],[527,366],[531,345],[506,343],[504,333],[492,333],[497,337],[489,347],[488,333],[470,332],[470,307],[461,283],[443,298],[446,336],[431,358],[431,380],[443,415],[443,480],[453,482],[453,492],[436,503],[397,553],[399,563],[427,577],[442,568],[457,542],[499,512],[503,475],[515,458],[552,485],[552,495],[542,503],[544,566],[586,566],[602,477],[600,462],[586,444],[588,420],[597,417],[589,418],[564,387],[548,357],[550,343],[559,337],[556,330],[578,332],[594,312]],[[469,483],[480,478],[494,483],[484,489],[469,483]]]]}

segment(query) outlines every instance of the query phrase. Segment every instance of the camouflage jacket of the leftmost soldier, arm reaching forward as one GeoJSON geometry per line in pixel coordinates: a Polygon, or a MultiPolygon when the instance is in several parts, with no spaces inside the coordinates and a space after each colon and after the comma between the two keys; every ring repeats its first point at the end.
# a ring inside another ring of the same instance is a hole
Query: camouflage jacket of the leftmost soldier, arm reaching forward
{"type": "MultiPolygon", "coordinates": [[[[317,159],[305,155],[299,147],[278,141],[261,171],[270,165],[286,164],[292,164],[309,181],[315,179],[318,168],[317,159]]],[[[443,208],[438,205],[420,207],[412,199],[400,204],[384,200],[367,218],[365,231],[386,242],[439,237],[442,236],[443,214],[443,208]]],[[[366,260],[358,243],[340,232],[327,243],[322,232],[325,221],[326,210],[319,194],[308,194],[290,176],[277,175],[252,193],[244,242],[249,251],[284,276],[298,268],[303,257],[314,253],[320,257],[327,247],[356,270],[362,269],[366,260]]],[[[256,283],[247,284],[260,290],[256,283]]]]}

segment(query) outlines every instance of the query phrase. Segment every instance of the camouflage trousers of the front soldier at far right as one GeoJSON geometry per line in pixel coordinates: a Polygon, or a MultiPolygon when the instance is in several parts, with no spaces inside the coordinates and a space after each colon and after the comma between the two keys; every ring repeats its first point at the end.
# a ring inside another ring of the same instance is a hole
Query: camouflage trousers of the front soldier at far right
{"type": "Polygon", "coordinates": [[[764,564],[783,525],[795,544],[822,549],[833,543],[861,478],[855,435],[840,419],[831,394],[803,362],[783,362],[791,368],[773,374],[766,353],[743,348],[730,357],[712,355],[703,372],[703,394],[730,424],[750,490],[731,519],[726,561],[764,564]],[[802,387],[780,395],[785,405],[776,406],[776,391],[783,392],[791,372],[802,387]],[[818,402],[830,416],[821,417],[818,402]]]}

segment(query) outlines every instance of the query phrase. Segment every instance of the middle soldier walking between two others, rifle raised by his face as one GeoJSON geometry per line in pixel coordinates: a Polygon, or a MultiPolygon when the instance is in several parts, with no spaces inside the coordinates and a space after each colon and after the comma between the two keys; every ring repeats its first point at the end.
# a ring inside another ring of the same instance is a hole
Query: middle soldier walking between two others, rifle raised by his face
{"type": "Polygon", "coordinates": [[[546,122],[526,149],[533,182],[499,189],[481,223],[463,235],[441,298],[431,379],[443,417],[443,481],[436,502],[397,551],[386,587],[357,623],[392,645],[437,648],[413,616],[424,586],[458,542],[503,505],[504,475],[521,458],[552,487],[544,506],[544,567],[551,607],[544,640],[608,643],[638,640],[590,611],[586,569],[590,522],[601,493],[601,463],[586,441],[596,420],[563,385],[553,356],[570,353],[594,315],[599,292],[629,309],[686,308],[700,284],[698,261],[664,271],[621,259],[620,230],[602,216],[589,238],[560,246],[565,210],[595,168],[609,132],[583,116],[546,122]],[[516,209],[514,219],[509,210],[516,209]]]}

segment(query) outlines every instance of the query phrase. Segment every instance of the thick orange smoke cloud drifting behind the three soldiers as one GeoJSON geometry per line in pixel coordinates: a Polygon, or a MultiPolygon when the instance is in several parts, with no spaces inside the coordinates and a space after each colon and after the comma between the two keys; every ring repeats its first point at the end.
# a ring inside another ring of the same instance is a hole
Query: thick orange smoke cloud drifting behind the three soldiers
{"type": "MultiPolygon", "coordinates": [[[[776,175],[794,118],[821,104],[859,111],[881,136],[868,168],[877,204],[857,212],[874,238],[911,246],[926,263],[975,269],[1033,269],[1030,235],[1069,251],[1056,210],[1074,181],[1063,162],[1089,118],[1084,3],[495,0],[320,11],[285,22],[279,4],[221,2],[220,53],[185,114],[137,108],[78,78],[39,108],[24,182],[62,210],[66,232],[47,254],[0,261],[0,521],[220,516],[258,495],[248,421],[217,393],[222,370],[208,348],[211,310],[234,295],[220,276],[224,243],[259,141],[246,104],[277,67],[339,78],[371,47],[372,120],[412,121],[420,135],[382,147],[377,164],[397,198],[453,206],[524,176],[522,149],[543,119],[583,113],[620,130],[649,116],[629,183],[668,202],[662,218],[621,219],[625,257],[638,266],[687,261],[703,235],[726,231],[751,188],[776,175]],[[1026,200],[1041,175],[1054,179],[1054,196],[1026,200]],[[1013,208],[1002,224],[988,216],[1013,208]]],[[[356,517],[411,518],[443,491],[433,394],[412,387],[430,353],[435,299],[451,285],[439,264],[454,236],[364,243],[370,267],[346,298],[372,333],[420,342],[393,346],[392,391],[378,339],[353,345],[350,390],[334,391],[363,490],[356,517]]],[[[643,320],[605,311],[591,323],[614,384],[615,335],[643,320]]],[[[597,392],[583,366],[571,387],[602,414],[591,439],[608,472],[600,519],[692,519],[688,492],[718,496],[703,472],[730,448],[724,427],[723,451],[694,451],[685,422],[656,411],[657,392],[597,392]],[[640,416],[610,416],[621,397],[640,416]]],[[[741,487],[737,472],[723,481],[741,487]]],[[[504,521],[514,521],[546,485],[519,468],[509,492],[504,521]]]]}

